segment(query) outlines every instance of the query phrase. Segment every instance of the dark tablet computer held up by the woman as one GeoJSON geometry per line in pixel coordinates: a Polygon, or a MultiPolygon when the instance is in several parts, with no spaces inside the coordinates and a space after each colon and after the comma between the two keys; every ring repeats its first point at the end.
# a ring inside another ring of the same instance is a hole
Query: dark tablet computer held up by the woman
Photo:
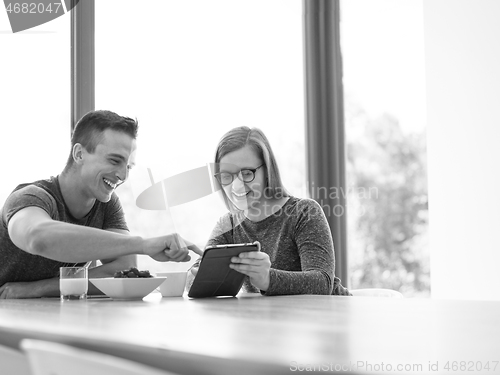
{"type": "Polygon", "coordinates": [[[205,249],[188,297],[236,296],[245,275],[229,268],[231,258],[245,251],[260,251],[260,243],[227,244],[205,249]]]}

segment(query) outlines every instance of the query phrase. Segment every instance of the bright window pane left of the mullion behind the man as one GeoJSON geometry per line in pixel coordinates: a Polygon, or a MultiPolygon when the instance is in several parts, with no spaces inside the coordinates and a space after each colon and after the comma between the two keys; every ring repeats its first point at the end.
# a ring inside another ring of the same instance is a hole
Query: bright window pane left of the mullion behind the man
{"type": "Polygon", "coordinates": [[[20,183],[59,174],[70,151],[70,15],[13,34],[0,12],[0,204],[20,183]]]}

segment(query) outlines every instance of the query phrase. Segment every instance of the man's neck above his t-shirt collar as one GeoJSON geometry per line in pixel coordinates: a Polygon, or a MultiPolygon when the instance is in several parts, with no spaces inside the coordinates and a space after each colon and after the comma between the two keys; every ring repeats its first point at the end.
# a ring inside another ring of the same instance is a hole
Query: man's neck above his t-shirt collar
{"type": "Polygon", "coordinates": [[[73,171],[63,171],[59,175],[59,187],[64,203],[75,219],[81,219],[90,212],[95,198],[84,194],[80,178],[73,171]]]}

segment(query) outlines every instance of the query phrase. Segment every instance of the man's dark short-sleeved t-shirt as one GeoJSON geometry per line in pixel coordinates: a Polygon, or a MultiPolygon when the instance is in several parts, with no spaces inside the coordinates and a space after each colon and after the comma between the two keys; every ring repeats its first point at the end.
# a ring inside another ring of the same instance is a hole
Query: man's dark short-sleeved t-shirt
{"type": "Polygon", "coordinates": [[[0,285],[6,282],[36,281],[58,276],[59,267],[73,265],[32,255],[19,249],[8,233],[9,220],[19,210],[39,207],[57,221],[98,229],[127,230],[123,209],[115,193],[109,202],[95,202],[81,219],[74,218],[66,207],[58,177],[17,186],[0,210],[0,285]]]}

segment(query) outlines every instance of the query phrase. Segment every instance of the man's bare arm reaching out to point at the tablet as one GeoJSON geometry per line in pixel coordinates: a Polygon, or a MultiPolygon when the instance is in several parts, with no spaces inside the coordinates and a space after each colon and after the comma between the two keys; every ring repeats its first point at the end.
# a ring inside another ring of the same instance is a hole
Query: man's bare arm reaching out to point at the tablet
{"type": "Polygon", "coordinates": [[[181,248],[176,234],[143,239],[55,221],[38,207],[26,207],[14,214],[8,230],[20,249],[60,262],[115,259],[131,254],[146,254],[161,262],[185,262],[191,258],[188,249],[199,251],[191,245],[181,248]]]}

